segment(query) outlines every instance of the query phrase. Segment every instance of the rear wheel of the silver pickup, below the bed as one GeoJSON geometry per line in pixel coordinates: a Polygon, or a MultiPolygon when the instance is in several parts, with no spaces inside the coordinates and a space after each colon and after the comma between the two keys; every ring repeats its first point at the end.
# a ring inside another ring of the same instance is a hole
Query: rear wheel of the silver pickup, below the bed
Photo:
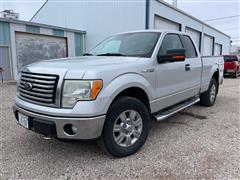
{"type": "Polygon", "coordinates": [[[218,94],[218,83],[215,79],[210,81],[208,90],[200,95],[200,104],[203,106],[213,106],[218,94]]]}

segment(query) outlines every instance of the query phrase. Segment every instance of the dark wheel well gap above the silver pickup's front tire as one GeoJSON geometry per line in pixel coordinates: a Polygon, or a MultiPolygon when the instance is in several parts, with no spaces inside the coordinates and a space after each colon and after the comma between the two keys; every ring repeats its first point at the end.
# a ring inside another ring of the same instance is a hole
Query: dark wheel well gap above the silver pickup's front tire
{"type": "Polygon", "coordinates": [[[130,96],[130,97],[136,98],[140,100],[150,110],[150,103],[149,103],[148,96],[146,92],[141,88],[138,88],[138,87],[127,88],[123,90],[121,93],[119,93],[115,97],[114,101],[121,96],[130,96]]]}

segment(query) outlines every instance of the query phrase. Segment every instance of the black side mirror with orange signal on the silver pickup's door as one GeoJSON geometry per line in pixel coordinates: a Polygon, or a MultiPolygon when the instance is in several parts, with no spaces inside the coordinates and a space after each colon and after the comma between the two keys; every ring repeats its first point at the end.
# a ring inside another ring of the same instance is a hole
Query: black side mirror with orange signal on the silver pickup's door
{"type": "Polygon", "coordinates": [[[185,49],[170,49],[167,50],[167,54],[165,55],[158,55],[157,60],[158,63],[163,62],[179,62],[185,60],[185,49]]]}

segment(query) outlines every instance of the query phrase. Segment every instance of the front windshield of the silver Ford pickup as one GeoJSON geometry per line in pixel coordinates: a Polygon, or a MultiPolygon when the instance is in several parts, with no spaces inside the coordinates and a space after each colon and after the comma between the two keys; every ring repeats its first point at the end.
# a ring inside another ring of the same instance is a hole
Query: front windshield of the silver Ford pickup
{"type": "Polygon", "coordinates": [[[138,32],[111,36],[93,48],[95,56],[151,57],[160,33],[138,32]]]}

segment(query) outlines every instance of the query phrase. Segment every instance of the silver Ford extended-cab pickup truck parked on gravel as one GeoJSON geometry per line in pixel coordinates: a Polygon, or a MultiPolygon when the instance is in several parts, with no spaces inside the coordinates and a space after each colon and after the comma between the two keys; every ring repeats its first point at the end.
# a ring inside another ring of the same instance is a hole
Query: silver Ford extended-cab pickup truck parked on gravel
{"type": "Polygon", "coordinates": [[[137,152],[157,121],[197,102],[212,106],[223,57],[201,57],[177,31],[116,34],[82,57],[24,67],[13,106],[18,123],[46,137],[97,139],[113,156],[137,152]]]}

